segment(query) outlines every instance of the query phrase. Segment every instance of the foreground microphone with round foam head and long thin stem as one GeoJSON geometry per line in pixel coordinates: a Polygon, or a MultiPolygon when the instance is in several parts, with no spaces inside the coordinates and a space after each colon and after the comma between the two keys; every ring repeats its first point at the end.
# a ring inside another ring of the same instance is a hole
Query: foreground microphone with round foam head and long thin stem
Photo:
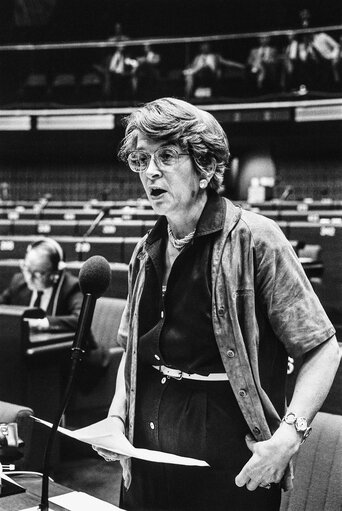
{"type": "Polygon", "coordinates": [[[89,335],[96,300],[103,295],[110,284],[111,270],[107,259],[98,255],[87,259],[87,261],[82,265],[80,269],[78,279],[81,291],[84,296],[80,316],[78,319],[75,339],[71,348],[72,365],[66,386],[65,396],[62,401],[60,410],[53,422],[44,454],[42,494],[40,505],[38,507],[38,509],[41,511],[49,510],[50,458],[58,425],[61,422],[62,416],[71,396],[72,384],[74,381],[77,363],[81,361],[81,357],[85,352],[84,346],[89,335]]]}

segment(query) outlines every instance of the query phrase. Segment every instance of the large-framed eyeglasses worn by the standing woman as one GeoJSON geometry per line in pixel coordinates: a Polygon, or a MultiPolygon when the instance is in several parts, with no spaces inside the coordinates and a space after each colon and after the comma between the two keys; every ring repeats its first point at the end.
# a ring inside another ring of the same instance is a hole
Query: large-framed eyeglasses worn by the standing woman
{"type": "Polygon", "coordinates": [[[174,147],[159,147],[152,154],[137,149],[129,153],[127,163],[133,172],[145,172],[153,158],[160,170],[170,170],[177,165],[180,156],[189,156],[189,153],[179,153],[174,147]]]}

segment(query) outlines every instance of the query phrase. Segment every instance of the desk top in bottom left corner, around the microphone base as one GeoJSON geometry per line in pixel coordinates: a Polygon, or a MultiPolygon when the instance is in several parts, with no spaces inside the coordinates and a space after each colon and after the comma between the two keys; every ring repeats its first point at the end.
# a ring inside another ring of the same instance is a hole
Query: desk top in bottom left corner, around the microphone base
{"type": "MultiPolygon", "coordinates": [[[[40,477],[14,476],[13,480],[26,488],[26,492],[0,498],[0,511],[21,511],[22,509],[38,506],[40,504],[42,491],[42,480],[40,477]]],[[[51,481],[49,483],[49,497],[62,495],[71,491],[72,490],[70,488],[66,488],[60,484],[53,483],[51,481]]],[[[50,509],[62,511],[64,508],[50,504],[50,509]]]]}

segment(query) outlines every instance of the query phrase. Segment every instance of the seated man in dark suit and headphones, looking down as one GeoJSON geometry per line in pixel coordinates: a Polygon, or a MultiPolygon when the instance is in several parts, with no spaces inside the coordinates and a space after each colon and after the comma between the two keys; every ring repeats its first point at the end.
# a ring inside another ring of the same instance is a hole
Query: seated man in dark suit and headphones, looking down
{"type": "MultiPolygon", "coordinates": [[[[46,311],[45,318],[28,320],[31,329],[40,331],[76,331],[82,302],[78,278],[65,269],[63,249],[52,238],[42,238],[27,247],[21,273],[16,273],[0,294],[0,304],[46,311]]],[[[110,355],[97,345],[91,332],[85,348],[77,381],[81,388],[89,390],[108,367],[110,355]]]]}

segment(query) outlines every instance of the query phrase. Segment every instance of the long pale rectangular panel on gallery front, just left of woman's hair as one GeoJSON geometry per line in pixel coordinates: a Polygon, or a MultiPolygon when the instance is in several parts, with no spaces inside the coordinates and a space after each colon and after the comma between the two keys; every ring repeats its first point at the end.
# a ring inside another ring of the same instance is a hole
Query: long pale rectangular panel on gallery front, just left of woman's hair
{"type": "Polygon", "coordinates": [[[38,130],[112,130],[113,114],[92,115],[40,115],[37,117],[38,130]]]}

